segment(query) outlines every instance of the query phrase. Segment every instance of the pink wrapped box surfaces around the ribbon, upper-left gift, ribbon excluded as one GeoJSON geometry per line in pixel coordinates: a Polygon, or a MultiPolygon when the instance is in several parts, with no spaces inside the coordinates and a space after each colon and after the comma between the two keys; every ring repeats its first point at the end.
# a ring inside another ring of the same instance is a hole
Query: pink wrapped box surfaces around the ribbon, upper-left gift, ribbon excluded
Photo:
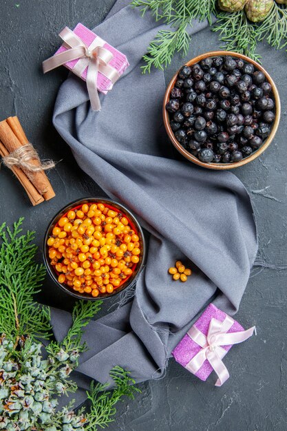
{"type": "MultiPolygon", "coordinates": [[[[92,32],[92,30],[89,30],[87,27],[85,27],[85,25],[81,23],[78,23],[76,25],[73,32],[81,38],[81,40],[85,43],[85,45],[87,45],[87,47],[89,47],[89,45],[94,41],[94,39],[99,37],[97,34],[92,32]]],[[[109,65],[111,67],[114,67],[114,69],[116,69],[119,75],[122,75],[127,69],[127,67],[129,66],[129,62],[127,61],[127,57],[125,56],[125,54],[116,50],[116,48],[109,45],[109,43],[107,42],[105,42],[105,44],[103,45],[103,48],[106,48],[111,52],[111,54],[113,54],[113,58],[111,59],[111,61],[109,61],[109,65]]],[[[65,48],[65,46],[61,45],[61,47],[56,52],[56,54],[59,54],[60,52],[64,52],[67,49],[68,48],[65,48]]],[[[67,61],[67,63],[65,63],[64,66],[67,67],[67,69],[73,71],[73,68],[75,67],[76,63],[78,63],[78,59],[67,61]]],[[[81,75],[81,78],[83,79],[83,81],[87,80],[87,67],[84,70],[83,74],[81,75]]],[[[107,92],[111,90],[112,87],[113,87],[113,84],[111,83],[109,78],[107,78],[105,75],[98,72],[98,81],[97,81],[98,91],[101,93],[107,94],[107,92]]]]}

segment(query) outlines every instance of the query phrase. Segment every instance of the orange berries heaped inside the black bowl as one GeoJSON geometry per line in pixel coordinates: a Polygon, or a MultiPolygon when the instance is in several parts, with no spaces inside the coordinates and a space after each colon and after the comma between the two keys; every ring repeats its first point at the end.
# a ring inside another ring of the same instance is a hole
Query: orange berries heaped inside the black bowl
{"type": "Polygon", "coordinates": [[[70,210],[47,240],[58,281],[78,293],[113,293],[140,261],[140,238],[123,213],[103,203],[70,210]]]}

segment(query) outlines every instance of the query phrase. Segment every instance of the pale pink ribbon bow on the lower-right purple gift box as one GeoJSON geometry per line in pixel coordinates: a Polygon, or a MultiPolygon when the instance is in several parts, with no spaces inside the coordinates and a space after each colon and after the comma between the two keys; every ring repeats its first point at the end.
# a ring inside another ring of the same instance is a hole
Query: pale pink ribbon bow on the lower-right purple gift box
{"type": "Polygon", "coordinates": [[[218,376],[215,386],[222,386],[229,378],[229,373],[222,362],[222,358],[226,355],[227,351],[220,346],[242,343],[242,341],[251,337],[255,330],[255,326],[253,326],[252,328],[237,333],[226,334],[231,326],[233,326],[233,323],[234,320],[228,315],[226,315],[223,322],[213,317],[209,324],[207,335],[202,334],[196,326],[191,326],[187,334],[202,349],[189,361],[185,368],[193,374],[196,374],[207,359],[218,376]]]}

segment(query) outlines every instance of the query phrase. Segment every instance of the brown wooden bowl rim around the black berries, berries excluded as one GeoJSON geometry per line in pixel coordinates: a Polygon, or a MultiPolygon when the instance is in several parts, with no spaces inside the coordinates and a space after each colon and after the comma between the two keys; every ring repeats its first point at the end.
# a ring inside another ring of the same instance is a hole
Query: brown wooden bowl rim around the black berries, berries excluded
{"type": "Polygon", "coordinates": [[[163,101],[163,106],[162,106],[162,114],[163,114],[165,129],[167,130],[167,134],[169,135],[169,139],[171,140],[173,145],[176,147],[176,149],[178,149],[178,151],[180,151],[182,156],[184,156],[185,158],[187,158],[191,162],[196,163],[196,165],[200,165],[200,166],[206,167],[208,169],[217,169],[217,170],[233,169],[235,167],[240,167],[240,166],[246,165],[246,163],[252,162],[252,160],[254,160],[258,156],[260,156],[260,154],[262,154],[263,151],[265,151],[266,148],[272,142],[272,140],[273,140],[273,138],[277,132],[277,128],[278,128],[279,120],[280,120],[280,114],[281,114],[281,105],[280,105],[279,93],[278,93],[277,87],[276,87],[273,79],[268,74],[268,72],[266,72],[264,67],[262,67],[262,65],[259,65],[256,61],[254,61],[252,59],[249,59],[249,57],[242,55],[242,54],[238,54],[237,52],[231,52],[231,51],[211,51],[211,52],[206,52],[205,54],[201,54],[201,55],[195,57],[191,61],[188,61],[186,63],[186,65],[191,66],[195,63],[199,63],[200,61],[202,61],[203,59],[206,59],[207,57],[224,56],[224,55],[238,57],[240,59],[248,61],[248,63],[252,63],[253,65],[255,65],[255,67],[258,70],[261,70],[262,72],[264,72],[268,83],[270,83],[270,85],[272,86],[272,91],[273,91],[273,96],[274,96],[274,101],[275,101],[275,120],[274,120],[274,123],[272,125],[270,135],[266,138],[266,140],[264,141],[262,146],[259,147],[259,149],[257,149],[257,151],[254,151],[250,156],[243,158],[242,160],[240,160],[240,162],[232,162],[232,163],[213,163],[213,162],[210,162],[210,163],[205,163],[205,162],[202,162],[201,160],[199,160],[197,157],[190,154],[189,151],[187,151],[186,149],[184,149],[184,147],[182,147],[182,145],[178,142],[178,140],[174,136],[173,131],[171,130],[171,126],[169,125],[169,113],[167,112],[167,109],[165,109],[165,105],[167,104],[167,102],[169,102],[170,92],[173,89],[174,84],[176,83],[176,78],[178,77],[179,70],[173,76],[173,78],[171,79],[171,82],[169,83],[169,86],[167,87],[167,91],[164,95],[164,101],[163,101]]]}

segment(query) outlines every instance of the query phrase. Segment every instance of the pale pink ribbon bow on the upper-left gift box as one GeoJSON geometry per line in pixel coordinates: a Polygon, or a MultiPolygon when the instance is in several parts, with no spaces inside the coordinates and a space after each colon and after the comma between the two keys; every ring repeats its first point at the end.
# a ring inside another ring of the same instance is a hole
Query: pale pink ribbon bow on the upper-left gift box
{"type": "Polygon", "coordinates": [[[87,92],[89,93],[92,109],[100,111],[100,99],[97,89],[98,72],[105,75],[113,84],[120,77],[116,69],[109,65],[113,54],[103,48],[105,41],[98,36],[89,46],[85,45],[70,28],[65,27],[59,36],[63,39],[65,48],[69,49],[43,61],[43,72],[49,72],[67,63],[67,61],[79,59],[73,68],[73,72],[81,78],[87,67],[87,92]]]}

